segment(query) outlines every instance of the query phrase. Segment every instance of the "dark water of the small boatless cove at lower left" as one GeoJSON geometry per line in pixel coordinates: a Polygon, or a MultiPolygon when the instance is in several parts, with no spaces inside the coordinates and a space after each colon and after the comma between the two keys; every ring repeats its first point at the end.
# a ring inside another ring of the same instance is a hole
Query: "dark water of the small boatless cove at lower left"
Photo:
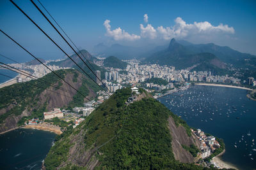
{"type": "Polygon", "coordinates": [[[41,169],[56,134],[17,129],[0,135],[0,169],[41,169]]]}

